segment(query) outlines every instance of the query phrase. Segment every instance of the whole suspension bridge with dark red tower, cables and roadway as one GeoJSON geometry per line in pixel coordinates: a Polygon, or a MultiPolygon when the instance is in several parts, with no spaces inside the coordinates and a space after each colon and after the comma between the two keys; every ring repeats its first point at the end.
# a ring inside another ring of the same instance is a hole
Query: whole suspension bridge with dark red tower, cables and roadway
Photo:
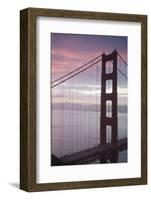
{"type": "Polygon", "coordinates": [[[118,162],[127,150],[127,62],[116,50],[53,80],[51,101],[52,166],[118,162]]]}

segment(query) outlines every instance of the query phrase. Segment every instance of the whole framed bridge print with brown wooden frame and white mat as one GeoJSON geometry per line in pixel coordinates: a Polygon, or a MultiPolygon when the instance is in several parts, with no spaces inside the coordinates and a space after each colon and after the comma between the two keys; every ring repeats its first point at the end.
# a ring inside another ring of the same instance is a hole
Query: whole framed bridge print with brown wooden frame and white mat
{"type": "Polygon", "coordinates": [[[147,16],[20,12],[20,188],[147,183],[147,16]]]}

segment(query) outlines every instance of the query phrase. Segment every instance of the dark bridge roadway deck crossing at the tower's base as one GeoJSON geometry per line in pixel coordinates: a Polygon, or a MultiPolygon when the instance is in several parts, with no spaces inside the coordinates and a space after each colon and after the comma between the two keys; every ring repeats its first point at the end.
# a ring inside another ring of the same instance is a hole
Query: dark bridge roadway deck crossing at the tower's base
{"type": "Polygon", "coordinates": [[[59,158],[64,165],[73,164],[87,164],[101,159],[101,157],[106,156],[108,159],[112,152],[114,151],[124,151],[127,149],[127,138],[120,139],[117,145],[112,145],[110,143],[104,145],[98,145],[86,150],[72,153],[70,155],[65,155],[59,158]]]}

